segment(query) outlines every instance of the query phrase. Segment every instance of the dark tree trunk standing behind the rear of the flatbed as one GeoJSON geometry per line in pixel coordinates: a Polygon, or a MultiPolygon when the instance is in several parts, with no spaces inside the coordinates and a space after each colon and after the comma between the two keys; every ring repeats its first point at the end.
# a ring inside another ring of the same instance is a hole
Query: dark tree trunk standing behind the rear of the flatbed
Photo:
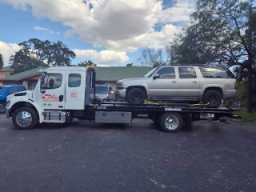
{"type": "Polygon", "coordinates": [[[248,82],[247,82],[247,112],[253,112],[253,75],[251,73],[251,67],[253,66],[253,58],[248,56],[248,82]]]}

